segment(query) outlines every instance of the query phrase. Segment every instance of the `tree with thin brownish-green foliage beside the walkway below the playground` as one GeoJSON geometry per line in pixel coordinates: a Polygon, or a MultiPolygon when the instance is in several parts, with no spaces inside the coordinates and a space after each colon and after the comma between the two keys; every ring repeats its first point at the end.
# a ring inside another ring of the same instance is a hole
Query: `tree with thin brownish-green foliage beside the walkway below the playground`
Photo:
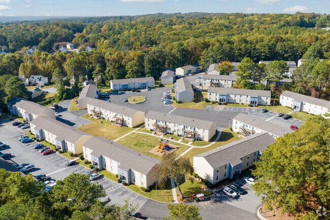
{"type": "Polygon", "coordinates": [[[152,168],[152,175],[157,180],[160,187],[164,187],[166,182],[171,178],[178,186],[181,197],[184,198],[180,181],[185,174],[192,173],[193,167],[188,158],[177,158],[174,152],[166,152],[162,155],[162,161],[159,166],[152,168]]]}

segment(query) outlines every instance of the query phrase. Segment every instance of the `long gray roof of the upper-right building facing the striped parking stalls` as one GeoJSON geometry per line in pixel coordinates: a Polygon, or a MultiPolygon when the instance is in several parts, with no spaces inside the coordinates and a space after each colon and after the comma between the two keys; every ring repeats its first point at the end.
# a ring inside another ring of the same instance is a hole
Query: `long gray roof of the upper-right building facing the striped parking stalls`
{"type": "Polygon", "coordinates": [[[237,95],[248,95],[251,97],[258,97],[258,96],[271,97],[271,91],[269,90],[209,87],[208,92],[217,92],[220,95],[237,94],[237,95]]]}

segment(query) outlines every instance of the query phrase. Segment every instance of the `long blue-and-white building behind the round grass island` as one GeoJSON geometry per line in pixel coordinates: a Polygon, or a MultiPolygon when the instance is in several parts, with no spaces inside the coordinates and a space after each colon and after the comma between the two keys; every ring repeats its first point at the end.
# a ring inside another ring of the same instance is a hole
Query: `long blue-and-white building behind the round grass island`
{"type": "Polygon", "coordinates": [[[153,77],[113,79],[110,81],[110,88],[113,91],[147,87],[155,87],[155,80],[153,77]]]}

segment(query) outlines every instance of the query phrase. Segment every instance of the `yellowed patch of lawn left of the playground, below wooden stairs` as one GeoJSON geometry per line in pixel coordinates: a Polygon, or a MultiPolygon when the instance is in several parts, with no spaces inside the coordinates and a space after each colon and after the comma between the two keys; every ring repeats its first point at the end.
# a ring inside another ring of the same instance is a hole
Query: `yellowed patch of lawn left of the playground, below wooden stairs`
{"type": "Polygon", "coordinates": [[[88,114],[85,114],[81,117],[91,120],[92,123],[86,124],[82,127],[79,127],[78,129],[93,136],[101,136],[108,138],[110,140],[115,140],[135,130],[135,128],[128,128],[128,127],[119,128],[117,127],[117,125],[113,125],[110,121],[106,121],[104,119],[98,119],[98,120],[95,120],[95,118],[89,119],[90,116],[88,114]],[[103,122],[100,123],[100,121],[103,122]]]}

